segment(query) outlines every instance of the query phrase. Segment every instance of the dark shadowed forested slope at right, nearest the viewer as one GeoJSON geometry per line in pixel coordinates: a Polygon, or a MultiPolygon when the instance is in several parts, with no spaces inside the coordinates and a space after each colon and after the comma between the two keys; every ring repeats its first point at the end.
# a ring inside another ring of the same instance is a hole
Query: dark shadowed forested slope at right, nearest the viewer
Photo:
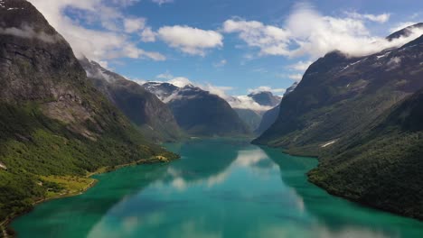
{"type": "Polygon", "coordinates": [[[423,90],[324,154],[309,173],[330,193],[423,220],[423,90]]]}

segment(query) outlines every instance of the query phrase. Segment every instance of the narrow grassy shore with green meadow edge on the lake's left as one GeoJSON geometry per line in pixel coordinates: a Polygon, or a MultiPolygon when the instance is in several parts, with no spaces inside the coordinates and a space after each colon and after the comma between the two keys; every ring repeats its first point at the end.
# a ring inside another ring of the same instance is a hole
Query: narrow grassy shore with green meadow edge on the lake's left
{"type": "MultiPolygon", "coordinates": [[[[84,180],[89,180],[89,183],[81,189],[77,189],[77,190],[66,190],[67,192],[61,192],[61,193],[57,193],[57,194],[50,194],[50,195],[46,195],[46,197],[42,197],[42,199],[39,199],[37,201],[35,201],[33,203],[33,207],[27,211],[24,211],[22,213],[17,213],[17,214],[11,214],[9,215],[8,218],[6,218],[4,221],[0,222],[0,237],[14,237],[14,230],[13,228],[10,226],[10,224],[12,224],[12,222],[14,221],[14,219],[16,219],[17,217],[21,216],[21,215],[25,215],[30,213],[33,208],[37,205],[40,205],[44,202],[48,202],[54,199],[60,199],[60,198],[64,198],[64,197],[74,197],[74,196],[79,196],[83,193],[85,193],[86,191],[89,190],[89,188],[93,188],[98,180],[95,178],[91,178],[94,175],[98,175],[98,174],[102,174],[102,173],[108,173],[108,172],[112,172],[118,169],[122,169],[125,167],[129,167],[129,166],[137,166],[137,165],[141,165],[141,164],[154,164],[154,163],[167,163],[167,162],[171,162],[173,160],[177,160],[179,159],[178,157],[175,158],[166,158],[164,156],[155,156],[149,159],[141,159],[141,160],[136,160],[130,163],[126,163],[126,164],[121,164],[121,165],[117,165],[117,166],[105,166],[105,167],[101,167],[93,172],[87,172],[87,174],[85,176],[52,176],[51,178],[59,178],[59,179],[65,179],[65,178],[80,178],[80,179],[84,179],[84,180]],[[10,234],[9,232],[12,232],[12,234],[10,234]]],[[[44,177],[45,179],[46,177],[44,177]]],[[[47,178],[49,179],[49,178],[47,178]]],[[[64,187],[63,189],[65,189],[66,187],[64,187]]],[[[68,187],[69,189],[69,187],[68,187]]]]}

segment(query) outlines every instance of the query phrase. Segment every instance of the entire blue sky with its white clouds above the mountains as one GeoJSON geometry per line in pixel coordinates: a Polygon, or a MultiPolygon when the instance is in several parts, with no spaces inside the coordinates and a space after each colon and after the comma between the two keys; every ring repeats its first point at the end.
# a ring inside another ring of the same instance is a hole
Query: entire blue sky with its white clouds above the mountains
{"type": "Polygon", "coordinates": [[[77,55],[134,80],[183,78],[229,95],[258,87],[282,95],[281,88],[299,80],[325,52],[356,56],[382,50],[390,45],[360,45],[423,19],[423,1],[417,0],[30,2],[77,55]]]}

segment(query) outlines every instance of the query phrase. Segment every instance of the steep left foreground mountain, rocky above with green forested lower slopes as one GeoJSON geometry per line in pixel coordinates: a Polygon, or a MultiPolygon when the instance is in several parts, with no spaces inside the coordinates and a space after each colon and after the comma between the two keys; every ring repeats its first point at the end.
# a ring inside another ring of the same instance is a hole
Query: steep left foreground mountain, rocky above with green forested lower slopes
{"type": "Polygon", "coordinates": [[[33,5],[1,1],[0,35],[1,221],[63,192],[47,180],[52,175],[81,178],[105,166],[175,158],[92,86],[68,42],[33,5]]]}

